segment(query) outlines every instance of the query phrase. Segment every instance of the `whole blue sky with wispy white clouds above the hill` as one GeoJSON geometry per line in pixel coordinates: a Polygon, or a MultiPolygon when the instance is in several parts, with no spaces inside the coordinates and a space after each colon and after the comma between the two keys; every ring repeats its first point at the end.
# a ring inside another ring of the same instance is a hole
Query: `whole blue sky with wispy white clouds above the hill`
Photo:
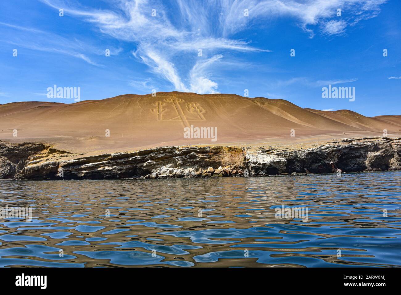
{"type": "Polygon", "coordinates": [[[55,84],[80,87],[81,100],[248,89],[401,115],[400,15],[399,0],[2,0],[0,103],[74,103],[47,98],[55,84]],[[322,98],[329,84],[355,87],[355,101],[322,98]]]}

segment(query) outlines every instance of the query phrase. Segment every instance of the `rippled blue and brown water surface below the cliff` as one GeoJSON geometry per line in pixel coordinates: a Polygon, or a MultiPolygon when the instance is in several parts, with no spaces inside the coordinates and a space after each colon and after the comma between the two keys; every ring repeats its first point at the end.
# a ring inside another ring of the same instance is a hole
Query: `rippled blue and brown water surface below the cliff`
{"type": "Polygon", "coordinates": [[[4,180],[0,207],[33,217],[0,220],[0,266],[399,267],[400,178],[4,180]]]}

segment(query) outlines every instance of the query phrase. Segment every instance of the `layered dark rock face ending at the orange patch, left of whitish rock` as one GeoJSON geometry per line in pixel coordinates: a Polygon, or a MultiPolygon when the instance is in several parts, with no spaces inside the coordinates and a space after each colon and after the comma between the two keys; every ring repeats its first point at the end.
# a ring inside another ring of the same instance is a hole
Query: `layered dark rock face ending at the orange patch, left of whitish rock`
{"type": "Polygon", "coordinates": [[[233,147],[160,147],[133,153],[104,154],[58,161],[29,162],[28,179],[111,179],[201,177],[203,168],[243,166],[244,155],[233,147]]]}

